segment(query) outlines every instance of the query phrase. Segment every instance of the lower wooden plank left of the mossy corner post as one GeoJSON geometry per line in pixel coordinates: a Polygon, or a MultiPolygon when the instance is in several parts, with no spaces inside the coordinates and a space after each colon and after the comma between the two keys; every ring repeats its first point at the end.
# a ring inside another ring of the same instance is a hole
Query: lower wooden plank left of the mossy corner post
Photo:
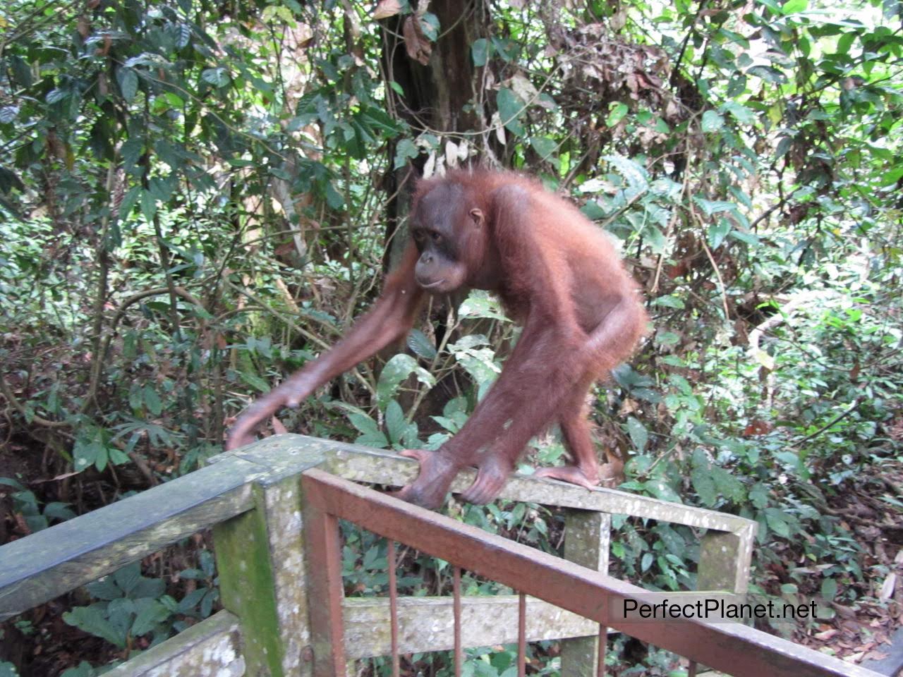
{"type": "Polygon", "coordinates": [[[242,677],[238,619],[228,611],[202,620],[179,635],[107,672],[107,677],[242,677]]]}

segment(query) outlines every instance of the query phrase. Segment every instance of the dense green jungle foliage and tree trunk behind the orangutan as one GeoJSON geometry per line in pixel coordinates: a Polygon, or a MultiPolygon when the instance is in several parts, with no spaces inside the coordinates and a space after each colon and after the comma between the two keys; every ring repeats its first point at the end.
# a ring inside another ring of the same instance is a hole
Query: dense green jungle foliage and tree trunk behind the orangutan
{"type": "MultiPolygon", "coordinates": [[[[858,660],[903,620],[899,0],[10,0],[0,58],[0,543],[217,453],[376,297],[416,178],[479,162],[573,199],[645,293],[592,400],[619,488],[756,520],[753,588],[831,616],[773,632],[858,660]]],[[[435,300],[285,422],[435,449],[516,335],[486,295],[435,300]]],[[[561,462],[550,431],[524,465],[561,462]]],[[[539,505],[448,510],[560,547],[539,505]]],[[[698,534],[614,527],[615,575],[693,587],[698,534]]],[[[385,543],[349,529],[344,557],[349,594],[385,590],[385,543]]],[[[401,582],[448,572],[411,554],[401,582]]],[[[0,675],[99,674],[217,605],[199,534],[0,626],[0,675]]],[[[616,674],[686,672],[614,642],[616,674]]]]}

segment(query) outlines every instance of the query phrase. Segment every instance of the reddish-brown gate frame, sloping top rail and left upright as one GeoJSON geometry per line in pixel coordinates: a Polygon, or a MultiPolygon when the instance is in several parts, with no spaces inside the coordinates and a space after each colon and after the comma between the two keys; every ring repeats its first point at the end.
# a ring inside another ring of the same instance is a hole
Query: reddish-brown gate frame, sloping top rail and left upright
{"type": "Polygon", "coordinates": [[[321,601],[312,608],[315,676],[344,674],[345,669],[337,519],[346,519],[722,672],[740,677],[877,677],[876,672],[738,623],[627,622],[614,609],[623,608],[627,599],[641,601],[646,590],[317,468],[303,473],[302,487],[305,530],[316,546],[311,552],[312,588],[321,601]]]}

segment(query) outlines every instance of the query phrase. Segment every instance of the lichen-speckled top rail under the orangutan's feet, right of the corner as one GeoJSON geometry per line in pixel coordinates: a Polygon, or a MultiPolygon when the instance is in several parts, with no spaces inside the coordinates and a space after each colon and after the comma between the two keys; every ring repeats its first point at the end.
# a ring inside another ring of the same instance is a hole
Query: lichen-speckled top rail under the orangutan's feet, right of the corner
{"type": "MultiPolygon", "coordinates": [[[[390,451],[315,438],[305,440],[309,441],[312,449],[322,450],[327,457],[323,468],[340,478],[397,487],[407,484],[417,475],[415,460],[397,456],[390,451]]],[[[452,483],[452,492],[458,493],[470,487],[474,477],[473,470],[461,470],[461,474],[452,483]]],[[[554,479],[535,479],[524,475],[515,475],[509,479],[499,497],[512,501],[595,510],[612,515],[634,515],[721,532],[739,533],[752,524],[743,517],[725,515],[694,505],[669,503],[603,487],[590,490],[554,479]]]]}

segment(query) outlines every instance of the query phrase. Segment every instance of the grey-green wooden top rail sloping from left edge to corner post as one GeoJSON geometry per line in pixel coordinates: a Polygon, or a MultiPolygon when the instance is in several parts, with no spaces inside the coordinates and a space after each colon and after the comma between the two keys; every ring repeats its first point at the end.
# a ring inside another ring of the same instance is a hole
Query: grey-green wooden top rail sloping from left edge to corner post
{"type": "Polygon", "coordinates": [[[0,547],[0,621],[251,507],[251,482],[319,462],[301,435],[257,442],[182,478],[0,547]]]}

